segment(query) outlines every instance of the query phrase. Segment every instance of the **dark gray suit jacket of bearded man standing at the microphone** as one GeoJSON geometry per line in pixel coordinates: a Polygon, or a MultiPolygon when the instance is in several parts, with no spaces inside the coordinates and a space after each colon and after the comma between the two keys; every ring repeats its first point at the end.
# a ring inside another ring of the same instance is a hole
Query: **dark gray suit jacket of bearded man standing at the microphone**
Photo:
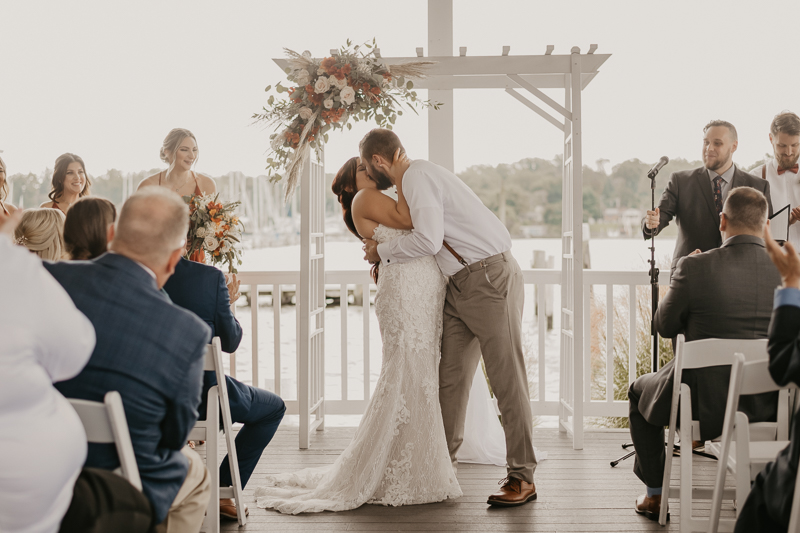
{"type": "MultiPolygon", "coordinates": [[[[772,216],[772,200],[769,194],[769,182],[756,178],[739,170],[733,172],[731,190],[735,187],[753,187],[764,193],[769,204],[769,216],[772,216]]],[[[711,180],[705,167],[694,170],[682,170],[670,176],[667,188],[661,195],[658,204],[661,210],[660,223],[656,235],[666,228],[674,218],[678,225],[678,240],[672,254],[672,274],[681,257],[699,249],[703,252],[719,248],[722,236],[719,232],[719,215],[714,206],[714,193],[711,180]]],[[[642,234],[650,238],[650,230],[642,221],[642,234]]]]}

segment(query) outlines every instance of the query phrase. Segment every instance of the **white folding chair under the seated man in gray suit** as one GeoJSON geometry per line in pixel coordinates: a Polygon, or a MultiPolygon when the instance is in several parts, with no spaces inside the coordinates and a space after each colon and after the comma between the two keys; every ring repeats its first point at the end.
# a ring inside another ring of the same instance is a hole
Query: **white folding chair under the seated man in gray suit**
{"type": "MultiPolygon", "coordinates": [[[[683,335],[678,335],[667,436],[667,455],[664,463],[664,478],[661,489],[661,512],[658,517],[658,522],[662,526],[667,524],[670,495],[672,494],[674,498],[676,493],[679,494],[681,500],[680,530],[682,532],[705,531],[710,523],[709,520],[700,520],[692,517],[692,500],[710,500],[713,496],[713,491],[711,489],[693,487],[691,442],[692,440],[700,440],[700,423],[692,420],[691,389],[686,383],[682,383],[683,371],[711,366],[730,366],[736,360],[734,354],[737,352],[744,354],[746,360],[763,359],[766,349],[766,339],[703,339],[686,342],[683,335]],[[673,487],[670,485],[672,453],[675,449],[679,405],[682,443],[680,486],[673,487]]],[[[733,491],[726,491],[724,496],[732,499],[734,497],[733,491]]]]}

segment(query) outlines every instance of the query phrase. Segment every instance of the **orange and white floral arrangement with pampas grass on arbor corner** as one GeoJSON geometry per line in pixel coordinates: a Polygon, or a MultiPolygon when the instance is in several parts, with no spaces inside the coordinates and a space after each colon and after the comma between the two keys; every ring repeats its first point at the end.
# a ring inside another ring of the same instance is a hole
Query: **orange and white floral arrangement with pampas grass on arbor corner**
{"type": "MultiPolygon", "coordinates": [[[[267,122],[277,130],[270,135],[271,154],[267,158],[270,181],[286,177],[286,199],[294,192],[305,156],[328,141],[331,129],[349,130],[351,120],[374,120],[378,127],[392,129],[403,114],[401,103],[412,111],[433,107],[438,103],[420,100],[408,78],[423,78],[431,61],[415,61],[400,65],[383,63],[376,53],[376,43],[353,46],[350,40],[338,53],[314,59],[306,51],[298,54],[284,49],[289,57],[286,69],[291,87],[280,83],[275,91],[286,98],[270,95],[262,113],[255,113],[256,122],[267,122]]],[[[269,92],[272,86],[265,89],[269,92]]]]}

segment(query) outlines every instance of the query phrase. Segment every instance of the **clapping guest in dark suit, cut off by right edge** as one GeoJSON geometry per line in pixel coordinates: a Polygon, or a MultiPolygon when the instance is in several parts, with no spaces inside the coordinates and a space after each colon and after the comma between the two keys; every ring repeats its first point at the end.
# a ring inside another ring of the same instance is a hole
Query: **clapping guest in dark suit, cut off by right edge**
{"type": "MultiPolygon", "coordinates": [[[[783,287],[775,291],[769,325],[769,373],[778,385],[800,385],[800,257],[791,239],[781,249],[769,230],[766,244],[783,280],[783,287]]],[[[800,411],[795,410],[791,427],[789,446],[756,477],[736,520],[736,533],[788,529],[800,458],[800,411]]]]}

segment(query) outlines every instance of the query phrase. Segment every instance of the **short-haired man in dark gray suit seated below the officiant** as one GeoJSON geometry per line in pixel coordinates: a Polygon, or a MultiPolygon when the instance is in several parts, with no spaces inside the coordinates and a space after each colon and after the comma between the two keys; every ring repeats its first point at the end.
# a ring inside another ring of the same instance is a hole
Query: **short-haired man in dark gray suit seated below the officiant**
{"type": "MultiPolygon", "coordinates": [[[[665,338],[683,334],[686,341],[708,338],[760,339],[767,336],[772,291],[780,275],[764,249],[768,203],[751,187],[728,193],[720,217],[722,247],[682,258],[669,292],[658,305],[655,326],[665,338]]],[[[647,486],[636,512],[658,519],[664,476],[664,426],[669,424],[674,362],[645,374],[628,390],[631,437],[636,449],[634,472],[647,486]]],[[[700,420],[701,440],[722,433],[730,367],[687,370],[692,413],[700,420]],[[701,385],[702,384],[702,385],[701,385]]],[[[775,420],[777,395],[743,397],[739,410],[752,422],[775,420]]]]}

